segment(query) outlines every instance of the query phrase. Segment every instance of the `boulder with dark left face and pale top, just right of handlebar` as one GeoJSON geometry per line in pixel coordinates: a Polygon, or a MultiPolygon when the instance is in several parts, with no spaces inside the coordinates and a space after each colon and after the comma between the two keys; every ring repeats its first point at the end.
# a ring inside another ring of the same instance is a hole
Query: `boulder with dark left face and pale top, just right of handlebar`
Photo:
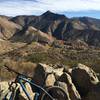
{"type": "Polygon", "coordinates": [[[46,77],[54,77],[54,76],[47,76],[48,74],[54,74],[56,77],[60,77],[63,74],[63,68],[53,68],[49,65],[39,63],[34,70],[33,75],[33,82],[44,86],[46,77]]]}

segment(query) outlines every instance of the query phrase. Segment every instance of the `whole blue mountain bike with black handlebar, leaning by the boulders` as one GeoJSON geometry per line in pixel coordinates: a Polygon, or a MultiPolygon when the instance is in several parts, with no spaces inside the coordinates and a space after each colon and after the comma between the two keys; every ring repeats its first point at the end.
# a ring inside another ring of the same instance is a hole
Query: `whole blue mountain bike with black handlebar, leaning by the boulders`
{"type": "MultiPolygon", "coordinates": [[[[9,90],[12,91],[9,100],[19,100],[18,99],[18,85],[20,84],[23,92],[25,93],[27,100],[32,100],[30,97],[30,94],[27,92],[25,83],[29,83],[32,88],[37,88],[40,90],[40,92],[36,92],[34,96],[34,100],[67,100],[66,92],[58,87],[58,86],[52,86],[48,88],[43,88],[37,84],[35,84],[32,80],[32,77],[26,76],[24,74],[21,74],[14,69],[9,68],[8,66],[4,66],[9,72],[15,73],[17,76],[15,80],[9,85],[9,90]],[[13,84],[15,84],[15,87],[13,87],[13,84]]],[[[37,91],[37,90],[35,90],[37,91]]],[[[6,100],[6,96],[8,93],[5,94],[5,98],[3,100],[6,100]]]]}

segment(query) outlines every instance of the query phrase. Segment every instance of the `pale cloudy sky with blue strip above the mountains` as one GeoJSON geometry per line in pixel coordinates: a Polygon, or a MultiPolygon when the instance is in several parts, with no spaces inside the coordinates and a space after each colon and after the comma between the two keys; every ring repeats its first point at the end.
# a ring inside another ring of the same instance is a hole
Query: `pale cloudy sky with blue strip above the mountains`
{"type": "Polygon", "coordinates": [[[100,18],[100,0],[0,0],[0,15],[40,15],[47,10],[100,18]]]}

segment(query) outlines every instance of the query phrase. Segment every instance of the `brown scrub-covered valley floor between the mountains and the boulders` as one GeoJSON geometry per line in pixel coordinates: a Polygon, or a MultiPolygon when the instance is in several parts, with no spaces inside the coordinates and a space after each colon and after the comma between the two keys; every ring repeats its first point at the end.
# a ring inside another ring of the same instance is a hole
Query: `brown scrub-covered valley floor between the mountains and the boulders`
{"type": "MultiPolygon", "coordinates": [[[[52,45],[34,41],[30,44],[0,41],[0,70],[2,65],[7,64],[19,72],[32,73],[30,69],[34,68],[34,63],[60,64],[68,67],[83,63],[100,73],[100,49],[62,44],[61,41],[55,41],[52,45]]],[[[2,70],[1,79],[7,78],[9,73],[2,70]]]]}

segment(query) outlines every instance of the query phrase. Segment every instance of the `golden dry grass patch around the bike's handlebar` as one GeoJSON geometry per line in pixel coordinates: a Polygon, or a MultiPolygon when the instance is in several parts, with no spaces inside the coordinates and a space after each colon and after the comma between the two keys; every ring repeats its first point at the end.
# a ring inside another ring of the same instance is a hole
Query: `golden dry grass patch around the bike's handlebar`
{"type": "MultiPolygon", "coordinates": [[[[36,64],[31,62],[16,62],[11,60],[5,60],[2,65],[6,64],[10,68],[14,69],[15,71],[18,71],[22,74],[32,76],[34,72],[34,68],[36,64]]],[[[10,80],[12,78],[15,78],[15,74],[8,72],[6,69],[4,69],[2,66],[0,67],[0,78],[1,80],[10,80]]]]}

